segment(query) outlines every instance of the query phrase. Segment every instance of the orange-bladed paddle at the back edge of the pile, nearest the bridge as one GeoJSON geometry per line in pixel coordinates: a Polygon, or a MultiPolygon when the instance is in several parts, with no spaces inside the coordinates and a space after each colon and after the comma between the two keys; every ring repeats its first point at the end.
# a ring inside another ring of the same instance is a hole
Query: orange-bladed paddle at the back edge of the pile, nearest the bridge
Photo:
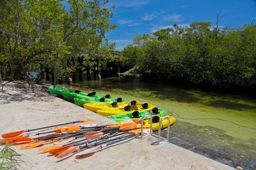
{"type": "Polygon", "coordinates": [[[68,124],[85,123],[85,122],[88,122],[88,121],[93,121],[93,119],[84,119],[84,120],[72,121],[72,122],[64,123],[64,124],[58,124],[58,125],[52,125],[52,126],[34,128],[34,129],[32,129],[32,130],[22,130],[22,131],[4,133],[4,134],[2,134],[2,138],[17,137],[18,135],[20,135],[20,134],[22,134],[22,133],[25,133],[25,132],[37,131],[37,130],[42,130],[42,129],[44,129],[44,128],[50,128],[50,127],[68,125],[68,124]]]}

